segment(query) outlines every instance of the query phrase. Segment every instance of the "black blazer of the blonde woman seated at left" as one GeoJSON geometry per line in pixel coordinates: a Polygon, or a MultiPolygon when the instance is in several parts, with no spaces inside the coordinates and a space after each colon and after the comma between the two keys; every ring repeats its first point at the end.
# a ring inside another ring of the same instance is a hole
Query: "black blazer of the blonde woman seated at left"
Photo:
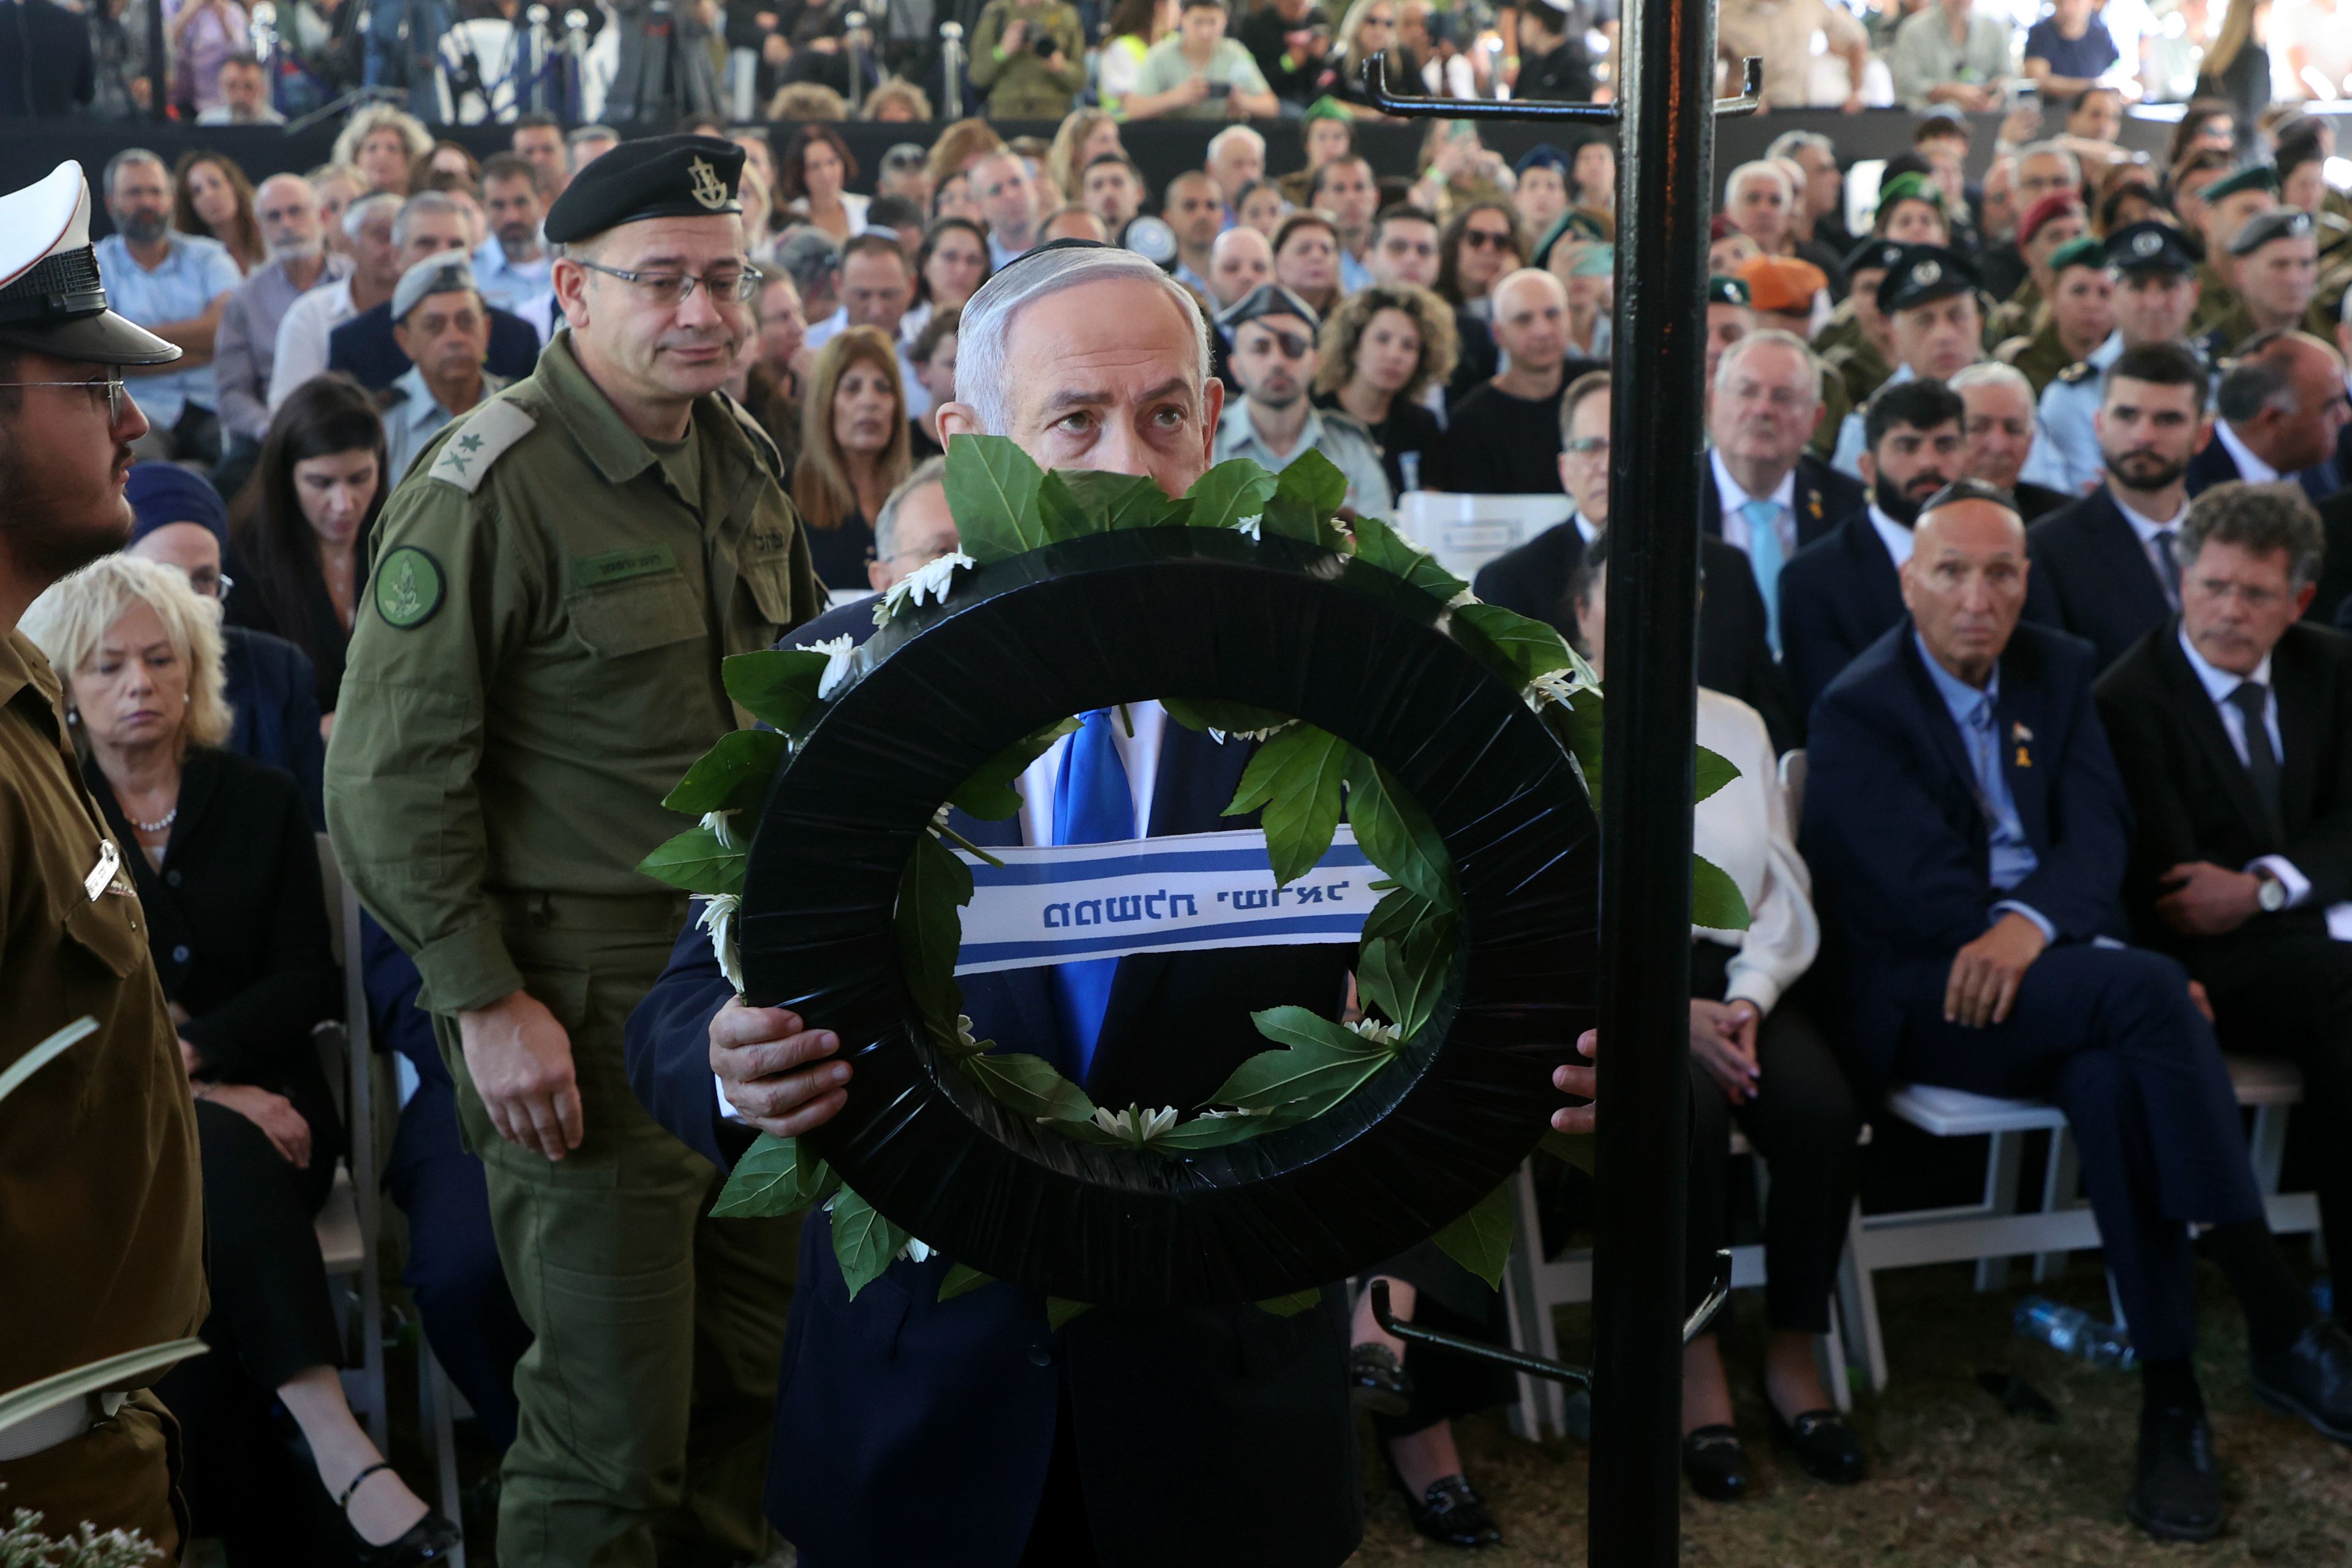
{"type": "Polygon", "coordinates": [[[188,1009],[179,1032],[202,1058],[198,1077],[282,1093],[310,1121],[313,1140],[332,1143],[336,1121],[310,1030],[336,1018],[343,992],[318,839],[294,778],[191,745],[160,870],[139,851],[99,764],[85,762],[82,778],[139,886],[162,994],[188,1009]]]}

